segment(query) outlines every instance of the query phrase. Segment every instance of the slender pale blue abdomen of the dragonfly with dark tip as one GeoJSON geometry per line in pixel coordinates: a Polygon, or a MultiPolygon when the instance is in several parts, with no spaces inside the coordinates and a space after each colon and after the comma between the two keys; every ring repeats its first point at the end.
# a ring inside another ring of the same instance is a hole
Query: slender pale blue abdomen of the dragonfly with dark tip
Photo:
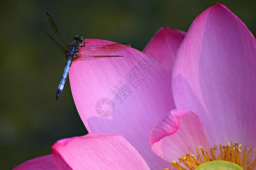
{"type": "Polygon", "coordinates": [[[65,65],[65,68],[64,68],[64,71],[63,71],[63,74],[61,76],[60,83],[59,83],[59,86],[58,86],[58,89],[57,89],[56,100],[58,100],[58,98],[60,97],[60,94],[63,91],[63,88],[65,86],[65,82],[66,82],[67,77],[68,77],[68,72],[69,72],[69,69],[71,67],[72,59],[73,59],[73,57],[68,57],[68,59],[67,59],[67,62],[66,62],[66,65],[65,65]]]}

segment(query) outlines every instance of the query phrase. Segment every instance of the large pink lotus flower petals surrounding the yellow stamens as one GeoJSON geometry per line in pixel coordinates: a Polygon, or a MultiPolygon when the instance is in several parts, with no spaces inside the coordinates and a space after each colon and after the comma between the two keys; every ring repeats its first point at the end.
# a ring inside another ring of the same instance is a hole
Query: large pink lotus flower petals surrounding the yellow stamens
{"type": "Polygon", "coordinates": [[[89,134],[56,142],[53,159],[15,169],[159,169],[198,146],[255,148],[254,36],[220,4],[184,35],[162,28],[144,53],[129,48],[116,53],[122,58],[73,63],[73,99],[89,134]]]}

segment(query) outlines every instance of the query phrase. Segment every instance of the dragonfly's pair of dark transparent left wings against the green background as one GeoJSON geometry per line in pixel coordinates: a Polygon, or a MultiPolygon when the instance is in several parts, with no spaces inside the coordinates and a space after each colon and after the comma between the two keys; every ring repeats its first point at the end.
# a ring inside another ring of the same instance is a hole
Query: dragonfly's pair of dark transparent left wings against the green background
{"type": "Polygon", "coordinates": [[[44,13],[44,16],[46,17],[47,25],[52,32],[51,33],[52,36],[49,34],[48,35],[56,42],[56,44],[60,47],[61,51],[63,51],[63,49],[68,50],[69,46],[71,45],[68,39],[63,35],[63,33],[61,33],[59,28],[57,28],[57,26],[55,25],[55,23],[53,22],[53,20],[51,19],[51,17],[47,12],[44,13]]]}

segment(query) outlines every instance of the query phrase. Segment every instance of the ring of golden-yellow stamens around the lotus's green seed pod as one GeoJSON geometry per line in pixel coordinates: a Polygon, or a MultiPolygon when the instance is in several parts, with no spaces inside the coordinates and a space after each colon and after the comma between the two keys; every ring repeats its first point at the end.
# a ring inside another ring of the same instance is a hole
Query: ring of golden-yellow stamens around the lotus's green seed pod
{"type": "MultiPolygon", "coordinates": [[[[242,144],[238,145],[238,142],[234,143],[233,145],[232,142],[229,141],[227,146],[220,145],[219,148],[220,148],[220,155],[218,156],[216,155],[215,151],[218,151],[218,147],[214,145],[213,148],[210,149],[210,154],[211,154],[211,157],[210,157],[208,152],[205,151],[203,147],[199,146],[196,148],[196,152],[199,160],[196,159],[195,155],[189,152],[188,154],[185,154],[181,158],[179,158],[179,162],[183,164],[183,166],[181,166],[175,160],[172,160],[171,168],[173,169],[175,167],[178,170],[186,170],[186,168],[184,167],[187,167],[187,169],[192,170],[198,167],[200,164],[211,162],[214,160],[225,160],[227,162],[232,162],[237,165],[240,165],[240,167],[243,169],[247,168],[247,170],[253,170],[253,168],[256,167],[256,154],[255,154],[255,159],[253,163],[249,163],[249,160],[247,160],[249,158],[249,155],[251,154],[251,151],[255,153],[254,148],[249,149],[247,146],[245,146],[245,148],[243,149],[242,158],[241,158],[242,144]],[[201,158],[201,155],[199,154],[199,148],[201,150],[201,154],[203,155],[204,162],[201,158]],[[246,154],[246,151],[248,151],[247,154],[246,154]]],[[[163,168],[163,169],[169,170],[169,168],[163,168]]]]}

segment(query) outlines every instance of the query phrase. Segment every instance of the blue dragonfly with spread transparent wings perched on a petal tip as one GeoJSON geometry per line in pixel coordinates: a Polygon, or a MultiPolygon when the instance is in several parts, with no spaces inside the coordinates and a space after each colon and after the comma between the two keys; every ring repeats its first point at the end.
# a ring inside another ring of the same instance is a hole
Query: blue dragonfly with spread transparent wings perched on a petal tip
{"type": "Polygon", "coordinates": [[[129,43],[126,42],[107,45],[86,45],[88,42],[85,42],[84,37],[82,37],[81,35],[76,35],[71,44],[60,31],[60,29],[57,28],[56,24],[53,22],[52,18],[49,16],[47,12],[44,13],[44,16],[46,18],[46,23],[48,27],[51,29],[51,33],[48,33],[46,29],[42,28],[43,31],[46,32],[49,37],[51,37],[51,39],[57,44],[57,46],[59,46],[61,52],[65,54],[65,57],[67,59],[63,74],[60,79],[59,86],[57,87],[56,100],[59,99],[60,94],[64,89],[65,82],[67,80],[69,69],[71,68],[72,62],[80,59],[123,57],[108,56],[108,54],[127,49],[131,46],[129,43]]]}

